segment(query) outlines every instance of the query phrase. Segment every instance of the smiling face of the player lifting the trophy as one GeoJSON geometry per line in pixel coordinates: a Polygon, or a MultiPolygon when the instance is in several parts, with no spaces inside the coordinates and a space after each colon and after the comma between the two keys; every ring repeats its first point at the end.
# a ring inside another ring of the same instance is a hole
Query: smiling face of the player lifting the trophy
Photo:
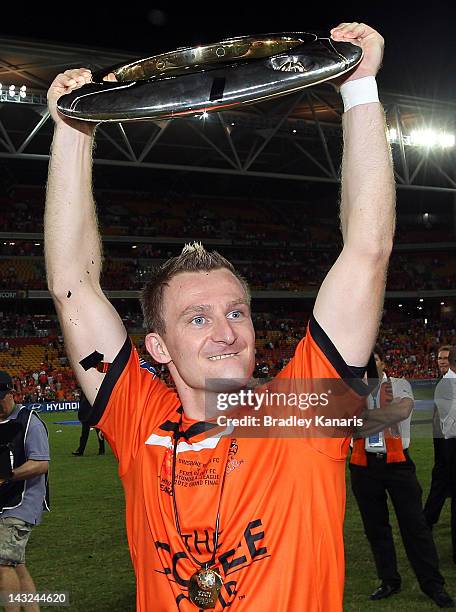
{"type": "Polygon", "coordinates": [[[255,332],[245,291],[229,270],[177,274],[165,288],[163,314],[164,334],[149,334],[146,346],[168,364],[183,402],[183,392],[201,396],[211,379],[236,379],[240,387],[250,378],[255,332]]]}

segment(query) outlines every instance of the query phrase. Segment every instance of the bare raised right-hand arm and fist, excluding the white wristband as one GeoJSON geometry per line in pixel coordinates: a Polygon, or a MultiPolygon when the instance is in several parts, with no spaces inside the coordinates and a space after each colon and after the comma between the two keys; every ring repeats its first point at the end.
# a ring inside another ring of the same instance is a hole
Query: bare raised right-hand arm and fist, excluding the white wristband
{"type": "MultiPolygon", "coordinates": [[[[341,24],[332,38],[363,47],[347,81],[375,76],[383,38],[365,24],[341,24]]],[[[375,343],[395,225],[395,187],[384,112],[379,102],[343,116],[340,219],[343,250],[317,296],[314,315],[348,365],[364,366],[375,343]]]]}

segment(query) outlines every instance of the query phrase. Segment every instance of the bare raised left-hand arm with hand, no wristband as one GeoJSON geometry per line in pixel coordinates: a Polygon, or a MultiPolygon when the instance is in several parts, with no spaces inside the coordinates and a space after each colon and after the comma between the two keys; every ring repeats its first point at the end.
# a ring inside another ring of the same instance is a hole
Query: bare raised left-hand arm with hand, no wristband
{"type": "Polygon", "coordinates": [[[48,287],[79,383],[93,403],[103,374],[80,361],[95,351],[110,362],[126,339],[124,325],[100,288],[101,241],[92,195],[94,126],[66,121],[58,98],[90,81],[90,71],[67,70],[48,91],[55,121],[44,217],[48,287]]]}

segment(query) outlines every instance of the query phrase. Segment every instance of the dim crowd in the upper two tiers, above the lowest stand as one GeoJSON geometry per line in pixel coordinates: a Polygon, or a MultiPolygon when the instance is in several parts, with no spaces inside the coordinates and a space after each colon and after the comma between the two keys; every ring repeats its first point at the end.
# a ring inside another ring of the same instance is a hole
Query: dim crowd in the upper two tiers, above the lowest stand
{"type": "MultiPolygon", "coordinates": [[[[14,199],[0,198],[0,225],[4,231],[18,228],[41,232],[42,194],[23,190],[14,199]],[[23,199],[21,199],[21,196],[23,199]]],[[[223,200],[184,202],[169,194],[152,198],[146,194],[103,194],[99,213],[105,236],[144,235],[223,238],[242,242],[236,247],[220,246],[246,277],[253,290],[305,291],[320,285],[337,257],[341,236],[337,219],[320,219],[312,224],[302,207],[288,205],[286,214],[270,203],[223,200]],[[273,246],[272,242],[277,244],[273,246]],[[265,243],[271,246],[264,246],[265,243]],[[293,246],[293,242],[300,247],[293,246]],[[250,248],[245,245],[250,244],[250,248]],[[263,245],[263,246],[262,246],[263,245]],[[329,245],[329,246],[328,246],[329,245]]],[[[452,227],[407,227],[398,224],[401,239],[438,242],[454,239],[452,227]]],[[[107,243],[102,286],[105,290],[138,290],[160,260],[179,252],[182,245],[107,243]]],[[[2,290],[45,290],[42,240],[4,240],[0,243],[0,288],[2,290]]],[[[454,258],[453,258],[454,259],[454,258]]],[[[388,290],[450,289],[456,269],[448,266],[446,251],[394,252],[388,274],[388,290]]]]}

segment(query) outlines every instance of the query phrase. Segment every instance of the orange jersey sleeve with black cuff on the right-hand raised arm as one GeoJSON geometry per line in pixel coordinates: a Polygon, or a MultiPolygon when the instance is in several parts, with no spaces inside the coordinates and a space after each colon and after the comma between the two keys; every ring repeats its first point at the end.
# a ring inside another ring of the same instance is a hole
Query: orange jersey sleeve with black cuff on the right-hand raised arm
{"type": "MultiPolygon", "coordinates": [[[[360,415],[365,408],[369,387],[360,377],[359,368],[347,365],[331,339],[314,316],[310,318],[307,333],[296,347],[290,362],[278,375],[279,379],[312,380],[315,387],[331,389],[332,408],[324,411],[332,418],[350,419],[360,415]],[[331,379],[331,380],[328,380],[331,379]],[[337,396],[337,401],[334,399],[337,396]]],[[[305,443],[333,459],[345,460],[352,428],[347,430],[320,428],[310,434],[305,443]],[[325,435],[328,431],[328,435],[325,435]]]]}

